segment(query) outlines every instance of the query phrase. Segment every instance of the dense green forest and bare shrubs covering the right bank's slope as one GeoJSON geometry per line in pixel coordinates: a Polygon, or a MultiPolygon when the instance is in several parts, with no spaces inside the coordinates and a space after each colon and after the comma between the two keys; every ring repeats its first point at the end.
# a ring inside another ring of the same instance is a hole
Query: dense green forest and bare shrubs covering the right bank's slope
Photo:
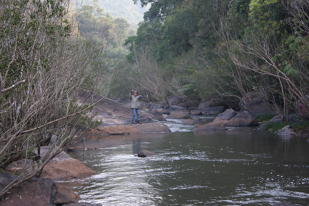
{"type": "Polygon", "coordinates": [[[141,2],[152,4],[125,42],[131,53],[115,79],[129,83],[119,88],[137,83],[153,100],[223,97],[235,106],[256,92],[284,121],[298,105],[309,108],[309,0],[141,2]]]}

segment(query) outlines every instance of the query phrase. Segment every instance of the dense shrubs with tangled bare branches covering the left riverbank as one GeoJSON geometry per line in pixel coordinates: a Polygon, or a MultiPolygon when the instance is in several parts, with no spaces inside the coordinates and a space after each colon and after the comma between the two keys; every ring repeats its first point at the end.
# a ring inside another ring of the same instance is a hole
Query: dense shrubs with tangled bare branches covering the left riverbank
{"type": "Polygon", "coordinates": [[[88,100],[109,84],[106,72],[124,53],[117,45],[125,39],[128,23],[111,16],[95,18],[93,8],[71,9],[69,3],[1,2],[0,168],[21,158],[31,161],[0,197],[39,177],[65,146],[100,124],[89,112],[97,102],[88,100]],[[96,32],[101,36],[92,36],[96,32]],[[88,95],[81,101],[82,90],[88,95]],[[49,151],[41,153],[40,147],[48,144],[49,151]]]}

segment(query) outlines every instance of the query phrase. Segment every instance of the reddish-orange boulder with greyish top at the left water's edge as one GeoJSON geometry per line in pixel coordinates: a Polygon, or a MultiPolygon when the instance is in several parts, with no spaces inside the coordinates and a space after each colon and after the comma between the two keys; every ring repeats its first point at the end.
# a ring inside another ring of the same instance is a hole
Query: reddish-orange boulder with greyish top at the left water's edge
{"type": "MultiPolygon", "coordinates": [[[[41,147],[42,156],[44,156],[44,153],[48,150],[49,146],[41,147]]],[[[59,180],[91,176],[94,174],[98,173],[85,166],[79,160],[71,158],[67,153],[62,151],[44,166],[41,177],[59,180]]]]}

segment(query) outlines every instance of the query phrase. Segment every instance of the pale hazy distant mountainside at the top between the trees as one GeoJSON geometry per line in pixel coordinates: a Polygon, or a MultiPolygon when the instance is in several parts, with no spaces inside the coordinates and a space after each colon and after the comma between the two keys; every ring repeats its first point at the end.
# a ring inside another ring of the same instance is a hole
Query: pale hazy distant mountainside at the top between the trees
{"type": "MultiPolygon", "coordinates": [[[[90,4],[92,2],[89,0],[90,4]]],[[[143,20],[144,12],[149,9],[142,8],[140,2],[135,5],[133,0],[95,0],[95,2],[104,9],[104,14],[125,18],[132,28],[138,27],[138,23],[143,20]]]]}

